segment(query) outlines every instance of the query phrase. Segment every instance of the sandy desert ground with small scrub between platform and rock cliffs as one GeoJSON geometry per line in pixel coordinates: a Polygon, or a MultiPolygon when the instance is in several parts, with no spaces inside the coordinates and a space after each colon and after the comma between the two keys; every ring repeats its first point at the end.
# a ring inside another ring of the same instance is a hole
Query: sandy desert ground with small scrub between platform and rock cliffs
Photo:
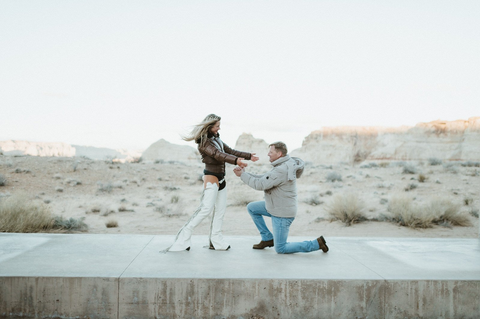
{"type": "MultiPolygon", "coordinates": [[[[262,173],[269,165],[248,162],[247,171],[262,173]]],[[[228,208],[224,236],[258,235],[246,204],[263,200],[240,181],[227,164],[228,208]]],[[[82,218],[90,234],[175,235],[196,209],[202,193],[203,166],[176,161],[117,163],[111,160],[36,156],[1,156],[2,197],[26,194],[40,205],[48,205],[54,216],[82,218]],[[117,227],[107,227],[115,222],[117,227]]],[[[1,176],[0,175],[0,176],[1,176]]],[[[355,165],[305,165],[297,181],[299,209],[290,235],[316,238],[354,237],[435,237],[477,238],[479,232],[480,168],[463,162],[367,161],[355,165]],[[464,164],[462,166],[462,164],[464,164]],[[414,173],[404,172],[405,167],[414,173]],[[420,174],[425,177],[420,182],[420,174]],[[332,176],[340,177],[341,181],[332,176]],[[418,203],[447,200],[468,216],[471,226],[435,225],[409,228],[391,221],[366,220],[346,226],[331,221],[329,207],[335,196],[356,194],[368,218],[388,216],[388,205],[397,195],[411,196],[418,203]]],[[[267,221],[267,225],[271,225],[267,221]]],[[[209,221],[195,230],[208,235],[209,221]]]]}

